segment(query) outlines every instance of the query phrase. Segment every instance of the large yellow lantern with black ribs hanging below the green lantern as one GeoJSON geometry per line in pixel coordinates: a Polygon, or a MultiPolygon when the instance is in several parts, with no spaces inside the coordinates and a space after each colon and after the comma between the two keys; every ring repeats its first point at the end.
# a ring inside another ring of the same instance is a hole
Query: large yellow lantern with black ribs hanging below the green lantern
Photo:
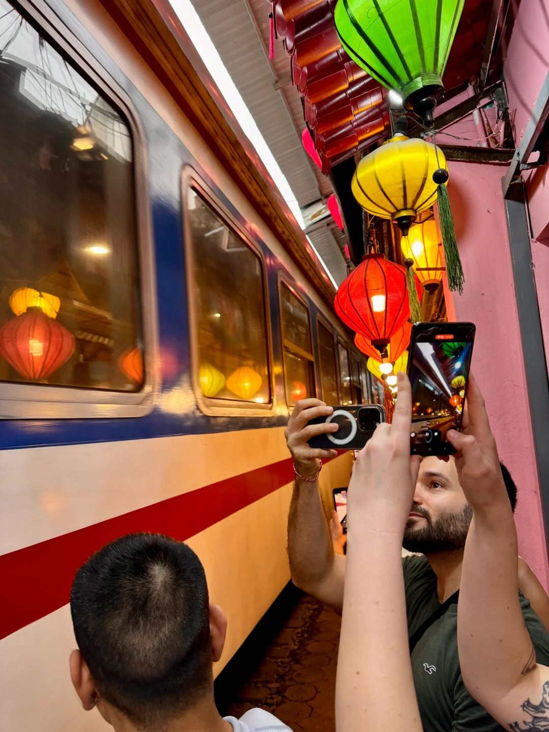
{"type": "Polygon", "coordinates": [[[444,153],[419,138],[395,135],[356,167],[351,190],[356,201],[373,216],[394,221],[408,234],[417,212],[428,209],[437,198],[433,173],[447,170],[444,153]]]}

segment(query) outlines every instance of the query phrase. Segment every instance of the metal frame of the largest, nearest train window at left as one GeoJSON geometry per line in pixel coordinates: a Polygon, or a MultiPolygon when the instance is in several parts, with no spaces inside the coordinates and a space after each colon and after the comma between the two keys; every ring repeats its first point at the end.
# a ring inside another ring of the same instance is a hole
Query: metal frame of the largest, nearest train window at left
{"type": "Polygon", "coordinates": [[[146,136],[129,95],[75,37],[62,17],[44,2],[9,0],[15,11],[36,29],[122,116],[132,138],[135,199],[136,266],[143,338],[143,386],[138,392],[0,381],[0,419],[116,419],[145,417],[154,408],[160,387],[157,291],[150,201],[146,181],[149,165],[146,136]]]}

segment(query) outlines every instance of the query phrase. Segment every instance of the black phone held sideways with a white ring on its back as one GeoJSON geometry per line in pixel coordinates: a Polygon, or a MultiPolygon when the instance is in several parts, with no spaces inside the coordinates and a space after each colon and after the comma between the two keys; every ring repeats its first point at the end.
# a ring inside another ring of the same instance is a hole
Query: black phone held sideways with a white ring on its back
{"type": "Polygon", "coordinates": [[[346,404],[332,407],[327,417],[311,419],[310,425],[336,422],[337,432],[317,435],[309,440],[310,447],[322,449],[359,450],[365,446],[381,422],[386,422],[385,408],[380,404],[346,404]]]}

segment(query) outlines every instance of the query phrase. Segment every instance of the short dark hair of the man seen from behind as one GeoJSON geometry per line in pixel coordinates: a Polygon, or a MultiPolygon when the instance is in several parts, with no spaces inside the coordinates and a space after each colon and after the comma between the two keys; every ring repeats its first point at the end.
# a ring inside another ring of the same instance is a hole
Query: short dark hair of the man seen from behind
{"type": "Polygon", "coordinates": [[[206,574],[186,544],[128,534],[105,545],[78,569],[70,612],[98,692],[138,728],[212,689],[206,574]]]}

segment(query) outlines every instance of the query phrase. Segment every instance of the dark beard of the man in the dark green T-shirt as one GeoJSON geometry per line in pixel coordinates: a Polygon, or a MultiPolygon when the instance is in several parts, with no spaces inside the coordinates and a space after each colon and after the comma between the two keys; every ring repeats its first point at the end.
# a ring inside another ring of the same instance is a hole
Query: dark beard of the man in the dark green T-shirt
{"type": "Polygon", "coordinates": [[[439,551],[461,549],[465,546],[467,532],[473,518],[469,504],[459,513],[441,513],[436,521],[422,506],[413,505],[411,512],[425,516],[427,526],[413,529],[415,521],[409,519],[404,530],[403,547],[411,552],[434,554],[439,551]]]}

